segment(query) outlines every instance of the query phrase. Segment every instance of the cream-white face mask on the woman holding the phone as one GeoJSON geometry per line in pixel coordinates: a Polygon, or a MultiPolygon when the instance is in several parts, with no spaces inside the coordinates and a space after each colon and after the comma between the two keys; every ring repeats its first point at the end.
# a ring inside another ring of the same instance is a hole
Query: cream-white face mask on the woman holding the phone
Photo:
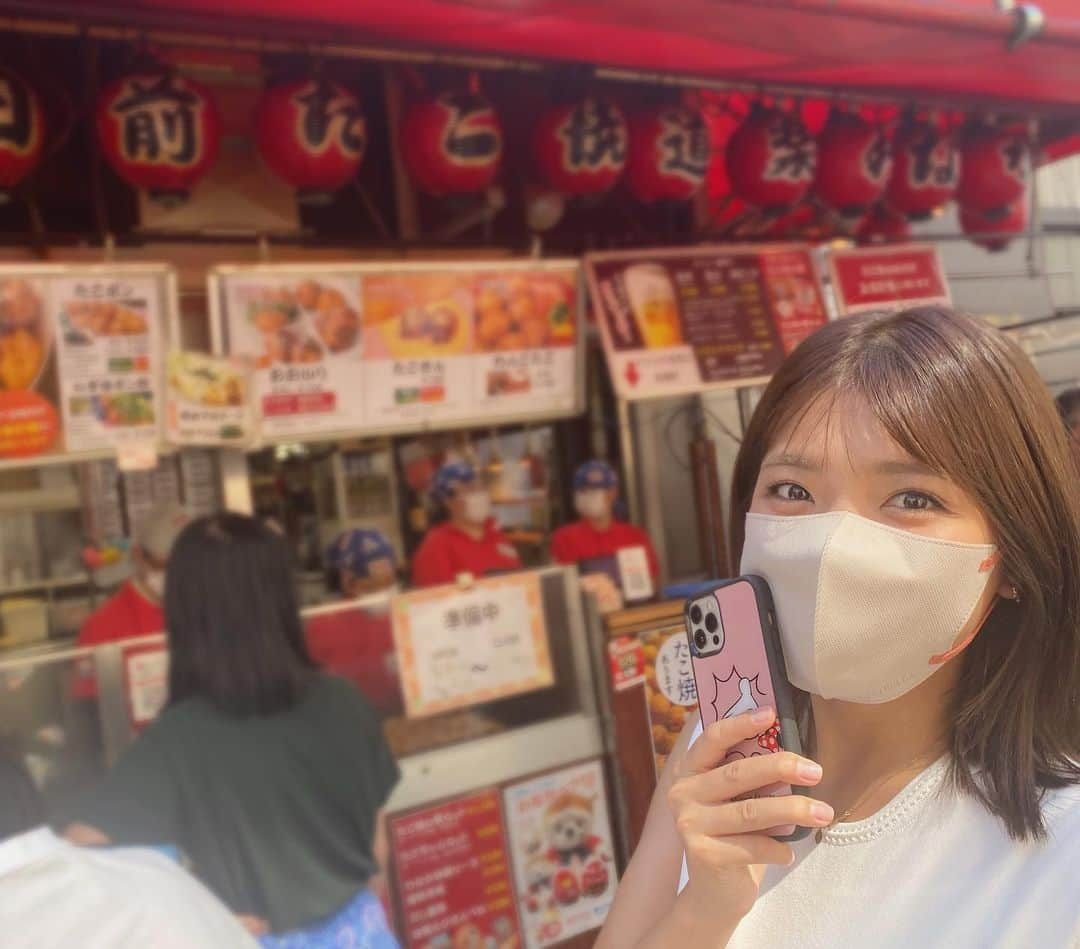
{"type": "Polygon", "coordinates": [[[741,572],[772,589],[794,686],[876,704],[941,668],[986,591],[995,550],[843,511],[747,514],[741,572]]]}

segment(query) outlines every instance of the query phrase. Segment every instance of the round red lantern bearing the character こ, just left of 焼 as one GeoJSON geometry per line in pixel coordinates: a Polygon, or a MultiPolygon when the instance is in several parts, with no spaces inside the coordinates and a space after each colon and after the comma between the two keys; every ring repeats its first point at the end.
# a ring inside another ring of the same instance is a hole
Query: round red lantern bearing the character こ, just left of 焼
{"type": "Polygon", "coordinates": [[[402,158],[429,194],[472,194],[491,186],[502,161],[502,126],[476,93],[443,93],[409,106],[402,158]]]}

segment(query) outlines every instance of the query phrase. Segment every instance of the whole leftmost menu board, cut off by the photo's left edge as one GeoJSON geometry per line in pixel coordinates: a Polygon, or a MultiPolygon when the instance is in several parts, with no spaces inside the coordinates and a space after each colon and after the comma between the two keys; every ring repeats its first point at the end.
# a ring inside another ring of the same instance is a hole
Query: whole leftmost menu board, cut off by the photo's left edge
{"type": "Polygon", "coordinates": [[[0,458],[157,445],[162,267],[0,269],[0,458]]]}

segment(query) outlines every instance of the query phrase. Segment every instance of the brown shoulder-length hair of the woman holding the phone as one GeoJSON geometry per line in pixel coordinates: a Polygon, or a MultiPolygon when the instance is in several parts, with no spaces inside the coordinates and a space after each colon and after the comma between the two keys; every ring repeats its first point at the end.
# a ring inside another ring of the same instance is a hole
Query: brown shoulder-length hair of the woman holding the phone
{"type": "Polygon", "coordinates": [[[778,433],[822,398],[865,401],[986,516],[1017,602],[999,600],[951,694],[951,775],[1015,839],[1047,788],[1080,783],[1080,482],[1050,393],[988,324],[940,307],[829,323],[772,378],[732,482],[732,550],[778,433]]]}

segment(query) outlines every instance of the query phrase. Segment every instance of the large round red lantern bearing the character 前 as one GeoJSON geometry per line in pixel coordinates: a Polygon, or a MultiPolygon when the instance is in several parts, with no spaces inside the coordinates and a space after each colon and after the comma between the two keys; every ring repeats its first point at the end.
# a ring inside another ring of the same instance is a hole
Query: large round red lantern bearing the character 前
{"type": "Polygon", "coordinates": [[[97,138],[133,188],[183,201],[217,158],[221,118],[210,92],[172,72],[127,76],[97,103],[97,138]]]}

